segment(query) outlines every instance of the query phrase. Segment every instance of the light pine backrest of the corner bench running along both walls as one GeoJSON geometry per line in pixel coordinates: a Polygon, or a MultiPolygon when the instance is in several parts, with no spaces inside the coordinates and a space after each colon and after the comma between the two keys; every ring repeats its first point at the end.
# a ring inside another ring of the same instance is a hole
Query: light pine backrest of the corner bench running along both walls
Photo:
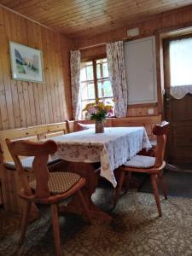
{"type": "MultiPolygon", "coordinates": [[[[153,127],[156,124],[160,124],[161,115],[155,116],[146,116],[146,117],[125,117],[125,118],[110,118],[106,120],[105,126],[108,127],[117,127],[117,126],[144,126],[148,137],[150,139],[154,138],[153,127]]],[[[1,151],[3,152],[3,160],[9,161],[12,160],[5,139],[9,138],[10,140],[29,140],[32,142],[38,142],[44,138],[51,138],[65,134],[68,132],[79,131],[78,123],[82,124],[93,124],[94,121],[90,120],[80,120],[80,121],[69,121],[62,122],[57,124],[49,125],[37,125],[27,128],[19,128],[14,130],[3,130],[0,131],[0,146],[1,151]]]]}

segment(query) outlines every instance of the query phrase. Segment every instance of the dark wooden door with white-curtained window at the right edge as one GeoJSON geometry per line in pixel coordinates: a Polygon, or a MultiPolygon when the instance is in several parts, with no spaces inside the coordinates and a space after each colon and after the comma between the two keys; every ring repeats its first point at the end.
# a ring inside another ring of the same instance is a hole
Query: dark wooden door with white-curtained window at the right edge
{"type": "MultiPolygon", "coordinates": [[[[192,54],[190,54],[191,50],[189,51],[189,48],[192,49],[192,38],[190,37],[164,41],[165,115],[171,124],[167,157],[168,162],[173,165],[192,163],[192,95],[188,93],[181,99],[176,99],[170,93],[173,86],[192,84],[192,54]]],[[[182,87],[179,89],[181,90],[182,87]]]]}

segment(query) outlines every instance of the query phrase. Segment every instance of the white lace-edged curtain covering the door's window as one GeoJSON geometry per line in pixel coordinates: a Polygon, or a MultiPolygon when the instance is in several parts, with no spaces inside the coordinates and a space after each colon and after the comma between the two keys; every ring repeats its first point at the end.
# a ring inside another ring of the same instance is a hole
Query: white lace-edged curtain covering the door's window
{"type": "Polygon", "coordinates": [[[183,38],[170,42],[170,94],[181,99],[192,94],[192,38],[183,38]]]}

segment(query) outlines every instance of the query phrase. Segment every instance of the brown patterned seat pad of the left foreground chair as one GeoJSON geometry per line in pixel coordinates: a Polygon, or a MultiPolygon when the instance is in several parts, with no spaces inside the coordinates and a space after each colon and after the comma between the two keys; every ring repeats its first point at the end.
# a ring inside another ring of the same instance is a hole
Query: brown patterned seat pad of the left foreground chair
{"type": "MultiPolygon", "coordinates": [[[[51,195],[62,194],[79,182],[81,177],[73,172],[50,172],[49,173],[49,191],[51,195]]],[[[30,183],[32,189],[36,189],[36,181],[30,183]]]]}

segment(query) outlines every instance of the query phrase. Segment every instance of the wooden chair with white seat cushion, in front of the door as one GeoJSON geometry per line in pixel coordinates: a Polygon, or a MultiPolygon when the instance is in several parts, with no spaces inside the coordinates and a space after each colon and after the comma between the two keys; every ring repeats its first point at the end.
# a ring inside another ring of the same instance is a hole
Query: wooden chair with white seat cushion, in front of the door
{"type": "Polygon", "coordinates": [[[160,178],[161,187],[167,199],[166,186],[163,179],[163,168],[166,166],[164,161],[164,154],[166,148],[166,137],[169,131],[169,123],[164,121],[161,125],[154,125],[153,133],[157,137],[157,146],[155,148],[155,156],[136,155],[131,160],[128,160],[124,166],[119,167],[119,182],[115,189],[113,206],[115,207],[119,199],[119,192],[121,191],[124,181],[125,173],[131,178],[131,172],[148,173],[151,177],[151,183],[154,191],[154,199],[158,208],[159,216],[162,216],[160,208],[160,196],[158,191],[157,181],[160,178]]]}

